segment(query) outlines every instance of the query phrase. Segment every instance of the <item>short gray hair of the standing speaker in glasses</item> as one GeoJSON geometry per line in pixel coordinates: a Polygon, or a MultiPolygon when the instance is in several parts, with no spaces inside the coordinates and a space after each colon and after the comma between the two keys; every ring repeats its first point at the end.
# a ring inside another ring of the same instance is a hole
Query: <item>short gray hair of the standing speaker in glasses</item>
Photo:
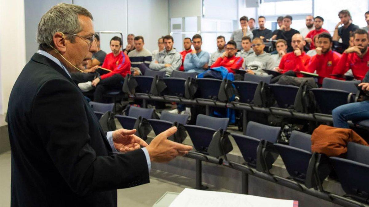
{"type": "MultiPolygon", "coordinates": [[[[92,14],[85,8],[73,4],[60,3],[47,11],[38,23],[36,41],[40,48],[50,49],[48,45],[54,46],[52,37],[55,32],[78,34],[82,26],[78,15],[84,15],[91,20],[92,14]]],[[[66,35],[70,42],[75,41],[74,35],[66,35]]]]}

